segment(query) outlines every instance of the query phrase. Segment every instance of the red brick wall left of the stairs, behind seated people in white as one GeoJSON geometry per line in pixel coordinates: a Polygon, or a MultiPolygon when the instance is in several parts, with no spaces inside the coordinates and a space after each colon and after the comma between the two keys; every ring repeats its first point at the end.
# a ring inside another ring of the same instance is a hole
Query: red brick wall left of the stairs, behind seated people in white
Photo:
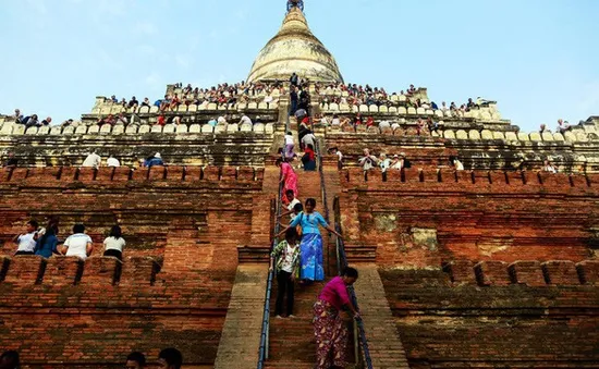
{"type": "MultiPolygon", "coordinates": [[[[191,368],[211,367],[264,170],[182,167],[17,169],[0,177],[0,347],[26,368],[119,368],[138,349],[175,346],[191,368]],[[83,222],[91,258],[11,257],[27,220],[61,219],[59,238],[83,222]],[[123,227],[123,262],[101,258],[123,227]],[[68,364],[68,365],[66,365],[68,364]],[[65,366],[66,365],[66,366],[65,366]]],[[[268,204],[267,204],[268,205],[268,204]]]]}

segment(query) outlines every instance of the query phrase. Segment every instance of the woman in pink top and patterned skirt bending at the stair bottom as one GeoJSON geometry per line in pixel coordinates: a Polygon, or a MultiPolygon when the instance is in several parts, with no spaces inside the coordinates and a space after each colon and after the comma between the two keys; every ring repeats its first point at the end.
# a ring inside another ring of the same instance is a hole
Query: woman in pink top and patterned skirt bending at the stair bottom
{"type": "Polygon", "coordinates": [[[316,369],[345,368],[350,333],[347,323],[339,312],[346,307],[354,318],[359,312],[352,304],[347,286],[357,280],[357,270],[345,268],[341,276],[333,278],[314,305],[314,335],[316,336],[316,369]]]}

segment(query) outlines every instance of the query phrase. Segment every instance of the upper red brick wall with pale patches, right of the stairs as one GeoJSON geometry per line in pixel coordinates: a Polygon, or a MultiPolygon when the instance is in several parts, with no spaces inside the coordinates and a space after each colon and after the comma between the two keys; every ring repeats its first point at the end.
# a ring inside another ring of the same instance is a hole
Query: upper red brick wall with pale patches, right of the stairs
{"type": "Polygon", "coordinates": [[[356,168],[341,179],[349,253],[376,246],[382,266],[577,262],[595,251],[595,175],[411,169],[383,181],[356,168]]]}

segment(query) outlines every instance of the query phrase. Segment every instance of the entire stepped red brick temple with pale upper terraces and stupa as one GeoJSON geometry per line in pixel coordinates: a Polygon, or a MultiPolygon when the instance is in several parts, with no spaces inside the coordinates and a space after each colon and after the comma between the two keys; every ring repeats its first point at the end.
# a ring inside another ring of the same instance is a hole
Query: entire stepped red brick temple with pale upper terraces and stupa
{"type": "MultiPolygon", "coordinates": [[[[122,368],[132,350],[155,359],[168,346],[184,368],[256,368],[279,207],[274,160],[285,126],[297,128],[288,119],[293,72],[308,81],[313,115],[395,123],[316,124],[319,170],[297,170],[300,197],[316,198],[340,225],[360,272],[372,368],[599,368],[599,116],[525,133],[494,101],[435,110],[421,87],[383,104],[335,102],[347,95],[335,87],[340,69],[297,8],[249,73],[248,83],[273,87],[234,103],[163,112],[98,97],[70,125],[0,118],[0,150],[19,159],[0,172],[0,348],[19,350],[23,368],[122,368]],[[121,113],[129,124],[98,124],[121,113]],[[260,123],[236,124],[243,114],[260,123]],[[159,115],[181,123],[158,125],[159,115]],[[208,124],[219,115],[229,123],[208,124]],[[439,128],[418,134],[428,118],[439,128]],[[365,173],[365,148],[403,152],[412,168],[365,173]],[[122,165],[81,168],[90,151],[122,165]],[[166,167],[139,167],[157,151],[166,167]],[[546,160],[558,173],[543,171],[546,160]],[[61,239],[84,223],[93,256],[13,256],[14,235],[49,216],[60,217],[61,239]],[[122,262],[100,253],[114,224],[127,243],[122,262]]],[[[175,94],[185,96],[167,86],[175,94]]],[[[337,275],[328,235],[325,261],[337,275]]],[[[313,368],[321,286],[297,288],[297,319],[270,321],[265,368],[313,368]]],[[[354,348],[366,368],[364,345],[354,348]]]]}

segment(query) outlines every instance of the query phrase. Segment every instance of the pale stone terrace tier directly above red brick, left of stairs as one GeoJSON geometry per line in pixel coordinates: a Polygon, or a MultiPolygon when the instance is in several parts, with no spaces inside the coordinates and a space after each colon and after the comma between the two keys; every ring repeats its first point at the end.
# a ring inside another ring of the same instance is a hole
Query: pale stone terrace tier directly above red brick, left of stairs
{"type": "MultiPolygon", "coordinates": [[[[105,125],[106,126],[106,125],[105,125]]],[[[234,126],[234,125],[233,125],[234,126]]],[[[21,125],[22,127],[22,125],[21,125]]],[[[110,128],[110,126],[107,126],[110,128]]],[[[161,126],[155,126],[162,130],[161,126]]],[[[168,128],[169,126],[167,126],[168,128]]],[[[103,128],[103,126],[102,126],[103,128]]],[[[60,134],[12,134],[0,136],[0,151],[14,152],[20,167],[78,167],[91,151],[108,159],[118,158],[122,165],[139,167],[139,162],[160,152],[164,162],[172,165],[252,165],[262,167],[270,153],[274,135],[272,125],[256,124],[253,132],[210,133],[152,133],[150,126],[140,126],[139,133],[131,127],[129,134],[118,134],[123,126],[112,127],[112,133],[95,133],[102,130],[81,126],[64,127],[60,134]],[[268,131],[267,131],[268,130],[268,131]],[[93,131],[90,133],[90,131],[93,131]],[[78,132],[78,133],[77,133],[78,132]],[[87,132],[87,133],[84,133],[87,132]]],[[[195,126],[191,127],[196,131],[195,126]]],[[[244,128],[244,127],[242,127],[244,128]]],[[[29,128],[30,130],[30,128],[29,128]]],[[[44,130],[44,128],[40,128],[44,130]]],[[[57,127],[57,131],[60,131],[57,127]]],[[[197,131],[200,127],[197,126],[197,131]]]]}

